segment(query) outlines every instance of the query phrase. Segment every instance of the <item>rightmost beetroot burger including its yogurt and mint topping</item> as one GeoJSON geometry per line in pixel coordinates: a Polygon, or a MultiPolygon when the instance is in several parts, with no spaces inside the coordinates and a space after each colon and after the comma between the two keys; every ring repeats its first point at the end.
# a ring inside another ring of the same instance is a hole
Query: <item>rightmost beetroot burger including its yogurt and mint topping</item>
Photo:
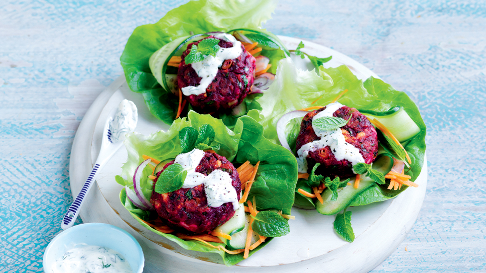
{"type": "Polygon", "coordinates": [[[304,116],[296,151],[300,173],[310,173],[319,163],[316,175],[348,178],[356,175],[354,165],[374,161],[378,138],[373,125],[362,113],[335,102],[304,116]],[[346,125],[327,130],[326,124],[330,122],[326,119],[329,117],[342,118],[347,121],[346,125]]]}

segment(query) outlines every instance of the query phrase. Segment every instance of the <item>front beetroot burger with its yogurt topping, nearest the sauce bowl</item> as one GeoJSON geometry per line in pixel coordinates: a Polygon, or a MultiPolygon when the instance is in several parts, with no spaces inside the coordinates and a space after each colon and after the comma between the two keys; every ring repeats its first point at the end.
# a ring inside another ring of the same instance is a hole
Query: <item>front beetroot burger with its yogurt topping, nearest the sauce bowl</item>
{"type": "Polygon", "coordinates": [[[155,190],[150,198],[157,214],[173,228],[194,234],[210,233],[227,222],[239,207],[241,182],[225,157],[194,149],[178,155],[157,173],[157,180],[173,164],[187,170],[182,187],[165,193],[155,190]]]}

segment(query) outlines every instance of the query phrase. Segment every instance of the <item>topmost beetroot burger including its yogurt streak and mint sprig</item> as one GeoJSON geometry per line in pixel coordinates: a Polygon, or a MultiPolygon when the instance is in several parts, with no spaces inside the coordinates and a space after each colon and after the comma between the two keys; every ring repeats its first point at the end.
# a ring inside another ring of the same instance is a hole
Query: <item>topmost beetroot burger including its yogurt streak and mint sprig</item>
{"type": "Polygon", "coordinates": [[[255,58],[240,41],[230,34],[218,33],[187,46],[181,56],[177,83],[194,109],[213,113],[242,103],[253,85],[255,67],[255,58]],[[211,47],[215,48],[213,52],[211,47]],[[196,49],[208,54],[196,56],[196,49]]]}

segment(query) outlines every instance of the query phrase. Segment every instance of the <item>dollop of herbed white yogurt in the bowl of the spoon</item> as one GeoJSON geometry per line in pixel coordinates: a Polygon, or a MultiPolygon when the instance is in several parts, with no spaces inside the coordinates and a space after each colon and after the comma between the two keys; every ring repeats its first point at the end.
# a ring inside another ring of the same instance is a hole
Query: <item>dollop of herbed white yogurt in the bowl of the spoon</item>
{"type": "Polygon", "coordinates": [[[123,99],[118,105],[115,119],[110,122],[111,141],[116,143],[122,140],[126,133],[135,130],[138,120],[138,113],[133,101],[123,99]]]}

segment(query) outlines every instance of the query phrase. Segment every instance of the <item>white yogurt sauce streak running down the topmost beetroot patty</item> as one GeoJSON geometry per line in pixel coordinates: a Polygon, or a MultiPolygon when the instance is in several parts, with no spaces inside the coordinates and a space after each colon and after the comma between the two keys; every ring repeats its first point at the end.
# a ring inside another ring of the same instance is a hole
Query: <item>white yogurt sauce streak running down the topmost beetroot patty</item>
{"type": "Polygon", "coordinates": [[[233,43],[233,46],[230,48],[220,48],[218,53],[216,53],[216,57],[211,55],[205,56],[204,60],[201,62],[191,64],[191,67],[196,71],[197,75],[201,77],[201,82],[199,83],[199,86],[183,87],[181,91],[186,96],[204,94],[208,86],[213,82],[216,74],[218,74],[218,68],[223,62],[225,60],[236,59],[243,52],[242,43],[233,37],[233,35],[219,33],[213,36],[231,42],[233,43]]]}

